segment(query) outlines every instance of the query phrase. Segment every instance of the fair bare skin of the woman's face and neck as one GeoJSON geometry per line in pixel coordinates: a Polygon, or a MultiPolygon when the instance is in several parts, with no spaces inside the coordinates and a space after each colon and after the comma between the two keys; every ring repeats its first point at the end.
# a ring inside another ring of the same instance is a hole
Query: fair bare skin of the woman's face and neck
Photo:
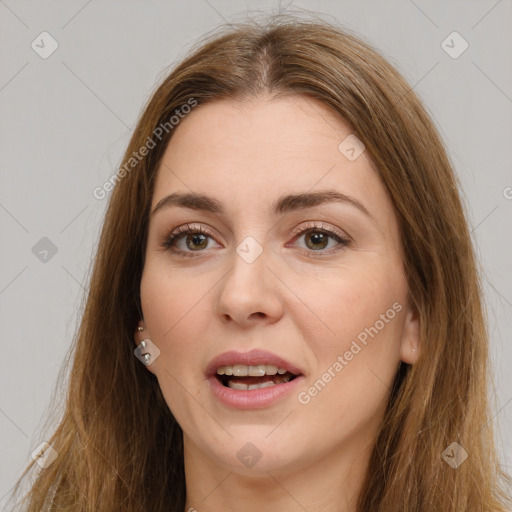
{"type": "Polygon", "coordinates": [[[141,281],[145,330],[135,341],[150,338],[160,350],[146,368],[183,429],[185,510],[353,511],[399,362],[413,364],[420,352],[387,192],[366,151],[354,161],[340,152],[351,130],[317,100],[217,101],[175,130],[152,210],[168,194],[190,191],[226,210],[156,212],[141,281]],[[270,212],[285,193],[325,189],[357,199],[371,218],[334,202],[270,212]],[[292,233],[311,222],[350,244],[292,233]],[[187,223],[213,234],[176,242],[190,258],[163,247],[187,223]],[[250,264],[236,252],[246,236],[263,248],[250,264]],[[222,352],[262,348],[304,370],[304,394],[397,303],[401,311],[307,404],[293,392],[237,410],[214,397],[204,376],[222,352]],[[261,453],[251,468],[237,457],[247,442],[261,453]]]}

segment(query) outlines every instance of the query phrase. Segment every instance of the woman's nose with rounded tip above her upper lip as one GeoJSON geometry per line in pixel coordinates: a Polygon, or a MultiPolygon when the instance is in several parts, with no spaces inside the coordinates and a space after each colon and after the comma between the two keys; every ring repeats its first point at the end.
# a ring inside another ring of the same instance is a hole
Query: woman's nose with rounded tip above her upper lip
{"type": "Polygon", "coordinates": [[[281,318],[285,286],[269,260],[268,251],[261,252],[254,261],[242,251],[233,254],[231,268],[217,288],[215,307],[222,322],[249,327],[272,324],[281,318]]]}

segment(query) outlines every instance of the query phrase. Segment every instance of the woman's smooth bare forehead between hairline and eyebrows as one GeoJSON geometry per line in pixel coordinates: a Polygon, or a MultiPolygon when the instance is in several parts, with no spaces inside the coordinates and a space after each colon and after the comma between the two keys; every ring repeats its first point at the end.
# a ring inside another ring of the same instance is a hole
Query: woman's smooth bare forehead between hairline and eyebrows
{"type": "Polygon", "coordinates": [[[270,206],[283,193],[316,189],[336,189],[363,203],[371,195],[368,209],[377,200],[389,208],[366,152],[351,161],[340,151],[351,134],[323,103],[301,96],[200,105],[175,128],[152,208],[177,190],[214,195],[240,211],[270,206]]]}

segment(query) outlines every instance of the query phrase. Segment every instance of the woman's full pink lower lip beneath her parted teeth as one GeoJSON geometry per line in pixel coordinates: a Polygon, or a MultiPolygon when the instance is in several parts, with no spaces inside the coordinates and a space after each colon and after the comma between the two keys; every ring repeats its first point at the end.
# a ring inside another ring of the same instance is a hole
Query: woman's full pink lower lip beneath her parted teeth
{"type": "Polygon", "coordinates": [[[224,386],[215,375],[212,375],[208,380],[213,394],[223,404],[236,409],[262,409],[289,395],[304,380],[304,375],[299,375],[293,380],[268,388],[245,391],[224,386]]]}

